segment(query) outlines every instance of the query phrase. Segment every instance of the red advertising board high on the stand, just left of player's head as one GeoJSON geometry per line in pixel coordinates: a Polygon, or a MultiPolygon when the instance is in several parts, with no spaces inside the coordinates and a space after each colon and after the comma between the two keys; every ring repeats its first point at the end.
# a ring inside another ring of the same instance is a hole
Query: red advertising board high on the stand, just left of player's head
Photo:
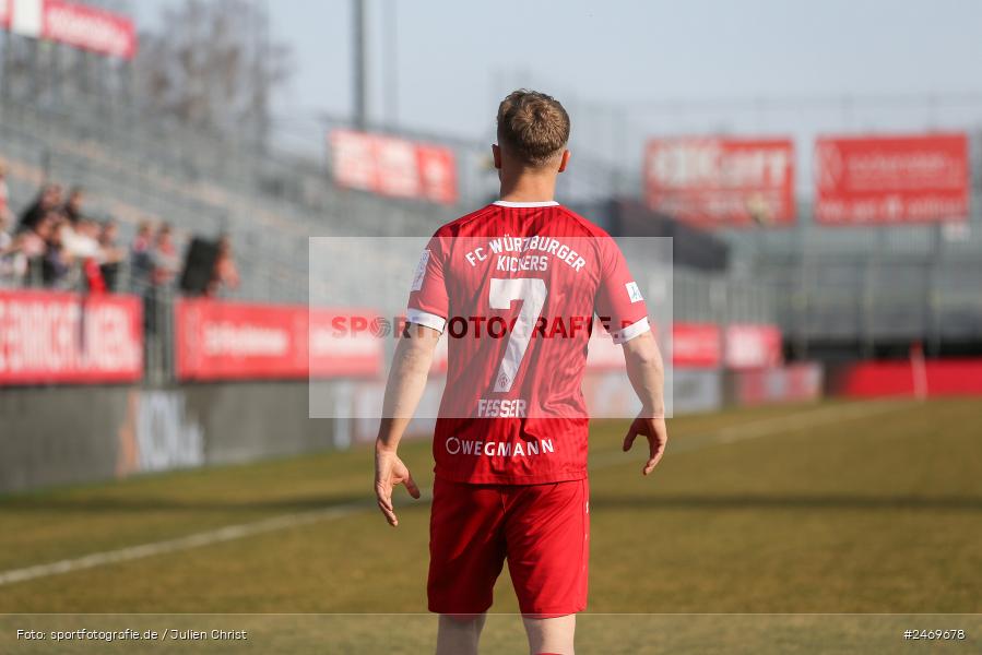
{"type": "Polygon", "coordinates": [[[381,195],[457,202],[457,162],[447,147],[352,130],[331,132],[334,180],[381,195]]]}

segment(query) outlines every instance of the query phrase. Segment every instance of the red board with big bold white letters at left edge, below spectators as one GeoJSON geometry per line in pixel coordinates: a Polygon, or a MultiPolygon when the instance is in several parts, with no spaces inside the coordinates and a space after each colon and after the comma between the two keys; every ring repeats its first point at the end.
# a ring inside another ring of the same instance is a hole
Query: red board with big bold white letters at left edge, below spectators
{"type": "Polygon", "coordinates": [[[0,291],[0,385],[138,381],[142,317],[131,296],[0,291]]]}

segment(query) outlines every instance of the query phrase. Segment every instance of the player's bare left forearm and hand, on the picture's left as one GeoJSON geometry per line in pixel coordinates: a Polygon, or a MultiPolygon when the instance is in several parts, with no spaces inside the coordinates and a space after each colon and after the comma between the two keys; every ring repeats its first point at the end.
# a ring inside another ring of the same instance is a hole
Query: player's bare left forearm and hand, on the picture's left
{"type": "Polygon", "coordinates": [[[395,346],[386,383],[382,419],[375,442],[375,495],[379,509],[393,527],[399,525],[399,517],[392,505],[392,490],[398,485],[405,485],[410,496],[419,498],[419,488],[397,450],[423,397],[439,340],[439,331],[409,323],[395,346]]]}

